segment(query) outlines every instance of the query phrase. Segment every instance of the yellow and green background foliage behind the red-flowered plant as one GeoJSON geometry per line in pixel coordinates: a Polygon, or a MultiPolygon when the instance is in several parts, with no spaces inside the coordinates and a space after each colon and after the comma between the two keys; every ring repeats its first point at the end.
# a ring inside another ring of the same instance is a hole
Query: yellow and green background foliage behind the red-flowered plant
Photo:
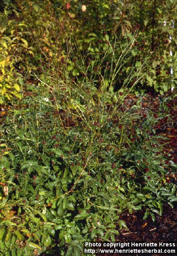
{"type": "MultiPolygon", "coordinates": [[[[147,56],[146,75],[136,85],[137,93],[139,88],[153,86],[155,91],[163,94],[176,84],[175,1],[168,0],[165,4],[161,1],[156,6],[149,1],[110,3],[109,0],[94,0],[91,4],[86,3],[86,12],[83,12],[82,2],[78,0],[73,1],[68,10],[63,1],[18,0],[16,3],[4,1],[3,8],[4,11],[0,13],[1,104],[7,100],[12,102],[14,96],[22,98],[22,90],[28,84],[30,74],[34,70],[41,74],[39,61],[42,66],[46,63],[46,68],[49,62],[62,67],[63,60],[68,57],[67,43],[70,42],[74,48],[76,57],[79,58],[80,53],[84,56],[88,51],[90,57],[94,58],[99,56],[99,49],[104,50],[109,46],[108,52],[113,50],[115,36],[124,45],[131,40],[132,34],[135,41],[131,46],[129,61],[119,70],[115,90],[121,88],[132,67],[141,66],[147,56]],[[68,41],[70,38],[74,38],[75,42],[68,41]],[[173,56],[170,56],[170,50],[173,56]]],[[[116,59],[121,54],[121,47],[116,48],[116,59]]],[[[68,70],[72,71],[73,76],[78,76],[73,60],[71,58],[68,70]]],[[[109,66],[113,60],[107,58],[106,61],[109,66]]]]}

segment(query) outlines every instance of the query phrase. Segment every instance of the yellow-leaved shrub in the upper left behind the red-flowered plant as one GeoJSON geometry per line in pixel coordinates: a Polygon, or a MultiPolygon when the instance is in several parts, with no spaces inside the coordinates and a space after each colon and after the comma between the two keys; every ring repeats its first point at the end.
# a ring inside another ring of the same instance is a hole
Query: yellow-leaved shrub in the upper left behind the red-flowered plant
{"type": "Polygon", "coordinates": [[[39,61],[54,55],[50,30],[59,29],[54,28],[57,25],[52,23],[53,14],[48,12],[46,2],[8,2],[4,13],[0,13],[0,104],[21,99],[39,61]]]}

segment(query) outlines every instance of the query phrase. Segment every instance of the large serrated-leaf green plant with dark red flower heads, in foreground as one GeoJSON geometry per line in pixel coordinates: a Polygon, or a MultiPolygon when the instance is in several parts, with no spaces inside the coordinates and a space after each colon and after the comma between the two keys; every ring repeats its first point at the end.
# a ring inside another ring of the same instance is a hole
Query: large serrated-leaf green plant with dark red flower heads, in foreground
{"type": "MultiPolygon", "coordinates": [[[[173,207],[177,198],[169,177],[176,160],[167,146],[175,140],[158,135],[158,129],[164,122],[173,125],[174,102],[164,100],[157,113],[141,113],[141,100],[127,109],[123,100],[134,73],[113,93],[115,74],[129,59],[129,43],[109,76],[105,60],[115,57],[114,51],[105,54],[109,45],[92,60],[105,63],[103,73],[89,63],[91,80],[80,78],[82,71],[87,74],[84,60],[74,62],[80,73],[75,79],[70,58],[61,70],[50,62],[48,69],[42,67],[43,76],[36,74],[38,86],[28,86],[24,107],[11,110],[4,120],[1,255],[52,253],[57,244],[60,255],[77,256],[84,241],[114,241],[116,225],[126,228],[119,219],[124,210],[145,207],[144,218],[150,214],[154,220],[164,202],[173,207]]],[[[143,66],[135,71],[137,77],[143,66]]]]}

